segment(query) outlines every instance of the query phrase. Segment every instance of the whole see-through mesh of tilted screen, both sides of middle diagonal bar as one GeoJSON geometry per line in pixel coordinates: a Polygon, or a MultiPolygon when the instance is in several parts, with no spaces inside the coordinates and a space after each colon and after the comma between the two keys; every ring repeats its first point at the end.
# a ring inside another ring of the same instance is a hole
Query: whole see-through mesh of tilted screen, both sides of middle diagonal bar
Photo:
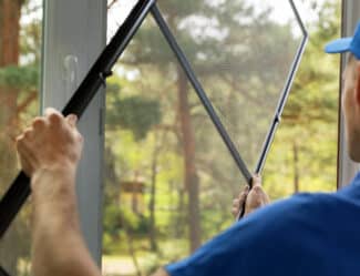
{"type": "MultiPolygon", "coordinates": [[[[157,2],[254,171],[302,41],[290,3],[276,2],[157,2]]],[[[104,275],[150,275],[234,221],[245,181],[151,18],[109,81],[105,137],[104,275]]]]}

